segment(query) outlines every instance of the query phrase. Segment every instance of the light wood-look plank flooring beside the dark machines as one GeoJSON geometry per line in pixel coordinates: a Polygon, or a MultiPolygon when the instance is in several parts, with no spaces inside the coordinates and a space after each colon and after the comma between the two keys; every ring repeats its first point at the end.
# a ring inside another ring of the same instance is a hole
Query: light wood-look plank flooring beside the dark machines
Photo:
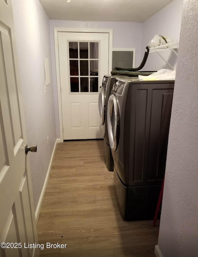
{"type": "Polygon", "coordinates": [[[41,256],[155,256],[158,227],[152,221],[123,221],[103,144],[96,140],[57,145],[37,231],[39,243],[67,246],[40,250],[41,256]]]}

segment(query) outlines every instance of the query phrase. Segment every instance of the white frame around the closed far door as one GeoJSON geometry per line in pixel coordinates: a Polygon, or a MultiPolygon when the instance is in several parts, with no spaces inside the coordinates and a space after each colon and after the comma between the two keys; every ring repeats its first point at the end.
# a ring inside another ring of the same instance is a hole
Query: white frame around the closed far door
{"type": "Polygon", "coordinates": [[[92,29],[92,28],[58,28],[54,27],[54,50],[55,50],[55,64],[56,64],[56,82],[58,93],[58,116],[59,116],[59,130],[60,139],[57,143],[63,142],[63,126],[62,126],[62,103],[61,103],[61,83],[60,83],[60,69],[58,56],[58,32],[80,32],[80,33],[108,33],[109,34],[109,64],[108,73],[112,70],[112,49],[113,49],[113,29],[92,29]]]}

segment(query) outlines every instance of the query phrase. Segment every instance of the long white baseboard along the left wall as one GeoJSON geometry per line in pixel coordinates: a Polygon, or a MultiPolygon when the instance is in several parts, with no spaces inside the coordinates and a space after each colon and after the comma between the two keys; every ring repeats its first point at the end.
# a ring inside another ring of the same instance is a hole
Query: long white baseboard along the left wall
{"type": "Polygon", "coordinates": [[[42,206],[42,203],[43,203],[43,198],[45,196],[45,191],[46,191],[46,187],[47,187],[47,183],[48,183],[48,179],[49,179],[49,174],[50,174],[50,170],[51,170],[52,160],[54,158],[54,153],[55,153],[55,150],[56,150],[56,145],[58,143],[58,140],[59,139],[56,139],[55,144],[54,144],[54,149],[53,149],[52,156],[51,156],[51,159],[50,159],[50,162],[49,162],[47,175],[46,175],[45,182],[44,182],[44,185],[43,185],[43,189],[42,189],[42,192],[41,192],[41,196],[40,196],[40,199],[39,199],[39,202],[38,202],[38,205],[37,205],[37,209],[36,209],[36,213],[35,213],[36,222],[38,222],[38,217],[39,217],[39,214],[40,214],[40,211],[41,211],[41,206],[42,206]]]}

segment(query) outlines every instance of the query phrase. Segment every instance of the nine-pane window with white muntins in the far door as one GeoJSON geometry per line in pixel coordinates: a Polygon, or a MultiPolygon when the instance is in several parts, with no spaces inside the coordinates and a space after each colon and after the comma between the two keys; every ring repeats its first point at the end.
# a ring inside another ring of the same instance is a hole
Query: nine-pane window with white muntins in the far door
{"type": "Polygon", "coordinates": [[[69,41],[68,46],[69,93],[98,93],[99,42],[69,41]]]}

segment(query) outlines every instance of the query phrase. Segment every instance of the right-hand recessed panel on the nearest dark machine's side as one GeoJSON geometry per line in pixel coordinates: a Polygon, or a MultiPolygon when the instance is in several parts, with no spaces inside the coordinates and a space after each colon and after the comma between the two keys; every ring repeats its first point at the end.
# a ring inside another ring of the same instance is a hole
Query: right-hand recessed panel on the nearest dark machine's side
{"type": "Polygon", "coordinates": [[[163,180],[173,101],[173,89],[153,90],[147,180],[163,180]]]}

